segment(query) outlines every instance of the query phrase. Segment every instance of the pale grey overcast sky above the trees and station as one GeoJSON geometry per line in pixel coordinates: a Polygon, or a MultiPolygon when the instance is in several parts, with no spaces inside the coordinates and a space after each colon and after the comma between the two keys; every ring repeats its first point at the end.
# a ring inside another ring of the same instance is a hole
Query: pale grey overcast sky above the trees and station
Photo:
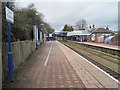
{"type": "MultiPolygon", "coordinates": [[[[56,31],[60,31],[65,24],[75,26],[80,19],[85,19],[88,25],[106,27],[118,30],[118,2],[117,0],[33,0],[38,12],[45,15],[45,20],[56,31]],[[46,2],[45,2],[46,1],[46,2]]],[[[26,7],[32,1],[19,2],[16,5],[26,7]]]]}

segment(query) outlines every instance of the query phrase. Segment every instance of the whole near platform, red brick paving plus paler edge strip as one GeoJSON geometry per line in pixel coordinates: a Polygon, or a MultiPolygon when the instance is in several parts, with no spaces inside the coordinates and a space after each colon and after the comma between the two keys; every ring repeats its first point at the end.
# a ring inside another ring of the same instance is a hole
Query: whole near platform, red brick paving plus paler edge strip
{"type": "Polygon", "coordinates": [[[3,88],[118,88],[112,76],[58,41],[46,42],[3,88]]]}

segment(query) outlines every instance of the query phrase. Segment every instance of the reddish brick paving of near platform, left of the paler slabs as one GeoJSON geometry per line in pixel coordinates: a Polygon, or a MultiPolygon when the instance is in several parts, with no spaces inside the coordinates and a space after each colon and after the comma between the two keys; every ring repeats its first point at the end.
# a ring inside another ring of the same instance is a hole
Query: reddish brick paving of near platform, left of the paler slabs
{"type": "Polygon", "coordinates": [[[47,42],[21,65],[3,88],[85,88],[56,41],[47,42]],[[52,48],[51,48],[52,47],[52,48]],[[51,52],[50,51],[51,48],[51,52]],[[48,57],[47,66],[44,66],[48,57]]]}

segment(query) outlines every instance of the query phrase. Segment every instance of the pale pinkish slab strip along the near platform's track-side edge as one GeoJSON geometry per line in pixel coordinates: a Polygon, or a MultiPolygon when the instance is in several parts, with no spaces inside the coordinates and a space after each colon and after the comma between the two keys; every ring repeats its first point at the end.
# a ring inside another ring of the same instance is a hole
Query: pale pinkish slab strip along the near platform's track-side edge
{"type": "Polygon", "coordinates": [[[88,63],[82,56],[59,43],[63,53],[87,88],[118,88],[119,83],[88,63]]]}

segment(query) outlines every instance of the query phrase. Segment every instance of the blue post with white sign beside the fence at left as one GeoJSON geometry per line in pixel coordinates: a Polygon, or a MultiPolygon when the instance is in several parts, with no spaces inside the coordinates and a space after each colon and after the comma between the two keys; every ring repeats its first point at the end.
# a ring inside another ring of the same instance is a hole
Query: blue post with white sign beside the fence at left
{"type": "Polygon", "coordinates": [[[10,1],[8,0],[7,2],[7,7],[6,7],[6,20],[8,21],[8,69],[9,69],[9,77],[10,81],[14,81],[14,70],[13,70],[13,57],[12,57],[12,49],[11,49],[11,27],[10,23],[13,23],[14,14],[10,10],[10,1]]]}

